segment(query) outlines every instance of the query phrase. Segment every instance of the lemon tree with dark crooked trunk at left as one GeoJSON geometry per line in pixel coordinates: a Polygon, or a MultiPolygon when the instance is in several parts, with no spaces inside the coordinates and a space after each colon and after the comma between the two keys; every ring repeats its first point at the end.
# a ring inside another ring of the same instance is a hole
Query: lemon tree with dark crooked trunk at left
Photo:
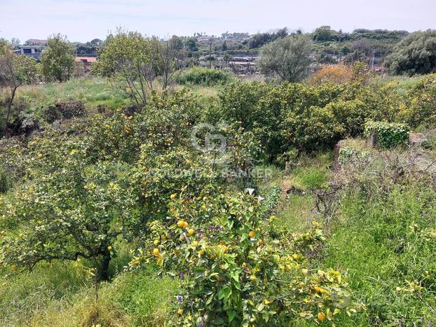
{"type": "Polygon", "coordinates": [[[101,162],[85,167],[83,149],[67,147],[68,155],[53,148],[52,153],[34,154],[60,169],[4,200],[0,260],[12,270],[24,270],[40,261],[100,258],[100,277],[108,279],[109,261],[116,255],[111,245],[129,232],[133,197],[122,166],[101,162]]]}

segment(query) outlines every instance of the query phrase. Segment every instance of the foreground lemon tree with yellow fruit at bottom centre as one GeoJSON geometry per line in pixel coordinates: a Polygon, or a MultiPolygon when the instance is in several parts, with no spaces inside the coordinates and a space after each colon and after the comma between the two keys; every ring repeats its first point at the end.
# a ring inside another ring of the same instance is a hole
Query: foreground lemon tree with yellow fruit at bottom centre
{"type": "Polygon", "coordinates": [[[280,245],[260,228],[264,209],[250,195],[182,192],[171,199],[168,222],[149,224],[145,247],[130,266],[151,261],[179,275],[173,323],[249,326],[353,312],[339,272],[307,268],[305,251],[323,239],[317,225],[280,245]]]}

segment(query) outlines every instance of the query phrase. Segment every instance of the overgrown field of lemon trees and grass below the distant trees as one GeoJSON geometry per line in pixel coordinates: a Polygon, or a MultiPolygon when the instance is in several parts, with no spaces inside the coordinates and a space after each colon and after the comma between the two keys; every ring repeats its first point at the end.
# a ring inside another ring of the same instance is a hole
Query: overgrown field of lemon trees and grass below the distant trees
{"type": "Polygon", "coordinates": [[[20,90],[0,325],[434,325],[436,76],[203,73],[144,107],[100,78],[20,90]]]}

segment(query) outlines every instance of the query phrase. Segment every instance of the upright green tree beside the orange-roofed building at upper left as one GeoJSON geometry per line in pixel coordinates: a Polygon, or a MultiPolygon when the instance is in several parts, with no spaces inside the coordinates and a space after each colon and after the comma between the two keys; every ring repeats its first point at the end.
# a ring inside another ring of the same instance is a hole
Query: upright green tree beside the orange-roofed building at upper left
{"type": "Polygon", "coordinates": [[[66,36],[50,36],[48,48],[41,55],[43,75],[48,81],[63,82],[69,80],[74,69],[74,49],[66,36]]]}

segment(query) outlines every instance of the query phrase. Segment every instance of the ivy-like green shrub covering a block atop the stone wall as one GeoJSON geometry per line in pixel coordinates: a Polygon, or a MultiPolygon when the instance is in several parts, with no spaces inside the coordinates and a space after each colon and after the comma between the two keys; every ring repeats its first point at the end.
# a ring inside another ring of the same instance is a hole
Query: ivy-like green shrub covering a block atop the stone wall
{"type": "Polygon", "coordinates": [[[372,144],[382,148],[392,148],[409,141],[409,126],[400,123],[369,121],[365,123],[365,135],[371,137],[372,144]]]}

